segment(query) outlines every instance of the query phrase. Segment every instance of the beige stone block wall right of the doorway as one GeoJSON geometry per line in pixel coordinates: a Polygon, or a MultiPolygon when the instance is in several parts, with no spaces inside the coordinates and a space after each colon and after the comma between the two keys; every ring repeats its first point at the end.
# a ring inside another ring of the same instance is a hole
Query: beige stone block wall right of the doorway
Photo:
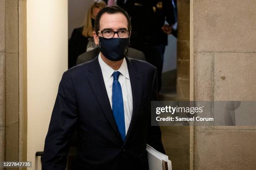
{"type": "MultiPolygon", "coordinates": [[[[256,100],[256,1],[192,2],[192,100],[256,100]]],[[[192,136],[191,169],[256,169],[255,127],[195,127],[192,136]]]]}

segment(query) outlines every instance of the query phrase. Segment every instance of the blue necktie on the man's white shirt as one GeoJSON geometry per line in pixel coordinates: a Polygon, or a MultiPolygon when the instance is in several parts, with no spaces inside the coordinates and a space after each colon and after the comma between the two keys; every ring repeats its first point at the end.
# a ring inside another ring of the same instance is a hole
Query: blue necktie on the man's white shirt
{"type": "Polygon", "coordinates": [[[115,118],[115,123],[118,126],[120,135],[125,140],[125,118],[124,118],[124,109],[123,109],[123,95],[120,82],[118,77],[120,72],[113,73],[113,86],[112,86],[112,111],[115,118]]]}

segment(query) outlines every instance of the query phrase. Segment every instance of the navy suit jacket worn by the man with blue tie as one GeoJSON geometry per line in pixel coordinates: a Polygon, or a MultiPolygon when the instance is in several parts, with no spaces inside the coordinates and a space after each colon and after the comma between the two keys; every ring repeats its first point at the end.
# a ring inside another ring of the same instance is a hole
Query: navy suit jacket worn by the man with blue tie
{"type": "Polygon", "coordinates": [[[151,126],[157,96],[156,67],[126,58],[133,115],[123,142],[110,107],[98,57],[64,72],[44,145],[43,170],[64,170],[77,128],[76,170],[148,170],[146,144],[161,153],[159,126],[151,126]]]}

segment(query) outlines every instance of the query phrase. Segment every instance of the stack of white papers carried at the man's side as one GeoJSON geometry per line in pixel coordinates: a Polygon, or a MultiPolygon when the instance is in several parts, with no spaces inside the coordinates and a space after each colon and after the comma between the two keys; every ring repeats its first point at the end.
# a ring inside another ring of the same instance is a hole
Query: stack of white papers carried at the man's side
{"type": "Polygon", "coordinates": [[[165,162],[167,162],[168,170],[172,170],[172,162],[168,159],[167,155],[164,155],[151,146],[147,144],[146,150],[148,152],[148,167],[149,170],[167,170],[167,167],[165,169],[163,166],[166,165],[165,162]],[[164,162],[163,162],[164,161],[164,162]]]}

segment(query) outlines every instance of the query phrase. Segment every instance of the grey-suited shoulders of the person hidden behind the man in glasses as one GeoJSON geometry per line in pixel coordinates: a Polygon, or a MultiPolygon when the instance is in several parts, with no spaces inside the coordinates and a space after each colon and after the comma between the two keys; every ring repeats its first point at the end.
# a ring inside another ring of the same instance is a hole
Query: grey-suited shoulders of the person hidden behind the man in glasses
{"type": "MultiPolygon", "coordinates": [[[[100,53],[99,48],[95,48],[93,50],[82,53],[77,58],[77,65],[95,59],[95,57],[98,56],[99,53],[100,53]]],[[[128,58],[134,58],[134,59],[137,59],[137,60],[143,60],[143,61],[146,60],[145,55],[143,54],[143,52],[141,52],[139,50],[136,50],[134,48],[131,48],[131,47],[129,47],[127,57],[128,58]]]]}

